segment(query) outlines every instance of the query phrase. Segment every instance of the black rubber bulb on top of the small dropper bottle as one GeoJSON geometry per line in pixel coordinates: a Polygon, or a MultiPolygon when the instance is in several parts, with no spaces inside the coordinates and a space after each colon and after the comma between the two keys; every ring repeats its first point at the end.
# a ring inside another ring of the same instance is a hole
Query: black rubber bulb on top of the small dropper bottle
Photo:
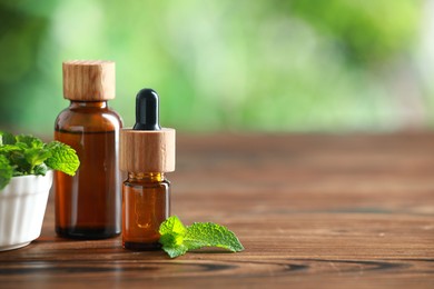
{"type": "Polygon", "coordinates": [[[136,124],[134,130],[161,130],[158,118],[158,94],[145,88],[136,97],[136,124]]]}

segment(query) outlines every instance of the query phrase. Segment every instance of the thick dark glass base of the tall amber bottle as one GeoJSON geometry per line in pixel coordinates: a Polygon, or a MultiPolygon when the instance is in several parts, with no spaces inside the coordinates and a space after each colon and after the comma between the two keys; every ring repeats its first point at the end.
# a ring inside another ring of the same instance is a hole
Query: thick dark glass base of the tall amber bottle
{"type": "Polygon", "coordinates": [[[56,233],[59,237],[79,240],[98,240],[116,237],[120,230],[116,231],[108,228],[61,228],[56,227],[56,233]]]}

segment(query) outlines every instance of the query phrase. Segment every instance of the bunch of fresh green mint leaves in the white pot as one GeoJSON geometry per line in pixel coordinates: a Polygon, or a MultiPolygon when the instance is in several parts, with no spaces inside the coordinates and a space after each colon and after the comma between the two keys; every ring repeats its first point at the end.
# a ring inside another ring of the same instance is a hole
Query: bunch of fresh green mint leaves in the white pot
{"type": "Polygon", "coordinates": [[[76,151],[65,143],[0,131],[0,190],[12,177],[45,176],[49,169],[73,176],[79,166],[76,151]]]}

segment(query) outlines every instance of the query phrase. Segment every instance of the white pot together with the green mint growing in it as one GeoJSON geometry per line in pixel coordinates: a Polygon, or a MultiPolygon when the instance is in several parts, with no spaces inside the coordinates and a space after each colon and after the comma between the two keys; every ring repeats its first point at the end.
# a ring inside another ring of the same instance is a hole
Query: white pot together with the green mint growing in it
{"type": "Polygon", "coordinates": [[[0,251],[40,236],[52,170],[73,176],[79,165],[65,143],[0,131],[0,251]]]}

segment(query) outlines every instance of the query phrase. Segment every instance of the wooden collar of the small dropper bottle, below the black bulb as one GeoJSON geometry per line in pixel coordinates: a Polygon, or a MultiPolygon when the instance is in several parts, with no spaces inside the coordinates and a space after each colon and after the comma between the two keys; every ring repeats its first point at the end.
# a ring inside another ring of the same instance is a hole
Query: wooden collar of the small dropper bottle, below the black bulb
{"type": "Polygon", "coordinates": [[[121,129],[119,147],[119,166],[124,171],[175,171],[175,129],[121,129]]]}

